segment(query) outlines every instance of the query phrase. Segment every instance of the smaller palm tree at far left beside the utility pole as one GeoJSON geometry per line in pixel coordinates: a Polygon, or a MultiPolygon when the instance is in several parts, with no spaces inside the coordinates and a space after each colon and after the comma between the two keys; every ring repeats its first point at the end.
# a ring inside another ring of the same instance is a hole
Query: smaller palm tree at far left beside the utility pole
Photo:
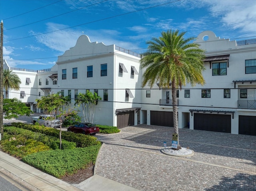
{"type": "Polygon", "coordinates": [[[5,97],[8,98],[9,89],[18,91],[20,89],[21,81],[18,75],[16,75],[12,72],[12,70],[9,69],[4,69],[3,76],[3,87],[5,89],[5,97]]]}

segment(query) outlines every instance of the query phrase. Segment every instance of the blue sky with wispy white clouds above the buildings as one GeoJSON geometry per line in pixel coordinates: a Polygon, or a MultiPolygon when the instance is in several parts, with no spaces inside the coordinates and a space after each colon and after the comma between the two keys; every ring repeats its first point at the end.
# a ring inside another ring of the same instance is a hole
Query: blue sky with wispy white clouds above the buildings
{"type": "Polygon", "coordinates": [[[82,34],[136,53],[169,29],[251,39],[255,10],[256,0],[0,0],[4,59],[10,67],[48,69],[82,34]]]}

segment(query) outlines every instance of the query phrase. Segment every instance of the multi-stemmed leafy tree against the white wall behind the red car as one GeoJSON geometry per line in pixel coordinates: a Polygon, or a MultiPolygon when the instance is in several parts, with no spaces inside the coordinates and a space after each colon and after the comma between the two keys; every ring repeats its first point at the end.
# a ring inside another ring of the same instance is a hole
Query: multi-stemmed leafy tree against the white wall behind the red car
{"type": "Polygon", "coordinates": [[[75,100],[78,106],[82,106],[82,111],[84,114],[84,121],[93,123],[95,106],[98,103],[98,100],[101,100],[101,97],[97,93],[92,93],[86,91],[86,93],[79,93],[77,99],[75,100]]]}

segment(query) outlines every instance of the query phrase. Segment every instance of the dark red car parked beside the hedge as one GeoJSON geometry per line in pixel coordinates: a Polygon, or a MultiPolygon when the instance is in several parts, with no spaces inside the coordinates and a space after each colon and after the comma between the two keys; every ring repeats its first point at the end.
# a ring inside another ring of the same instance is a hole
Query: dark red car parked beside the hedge
{"type": "Polygon", "coordinates": [[[68,127],[68,131],[74,133],[82,133],[82,134],[96,134],[100,132],[100,128],[92,123],[78,123],[68,127]]]}

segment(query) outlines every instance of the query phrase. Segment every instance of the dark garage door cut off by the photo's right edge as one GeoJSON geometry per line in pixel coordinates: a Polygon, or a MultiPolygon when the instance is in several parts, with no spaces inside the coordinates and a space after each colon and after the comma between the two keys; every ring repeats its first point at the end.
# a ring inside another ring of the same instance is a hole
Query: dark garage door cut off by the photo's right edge
{"type": "Polygon", "coordinates": [[[256,135],[256,116],[239,116],[239,134],[256,135]]]}

